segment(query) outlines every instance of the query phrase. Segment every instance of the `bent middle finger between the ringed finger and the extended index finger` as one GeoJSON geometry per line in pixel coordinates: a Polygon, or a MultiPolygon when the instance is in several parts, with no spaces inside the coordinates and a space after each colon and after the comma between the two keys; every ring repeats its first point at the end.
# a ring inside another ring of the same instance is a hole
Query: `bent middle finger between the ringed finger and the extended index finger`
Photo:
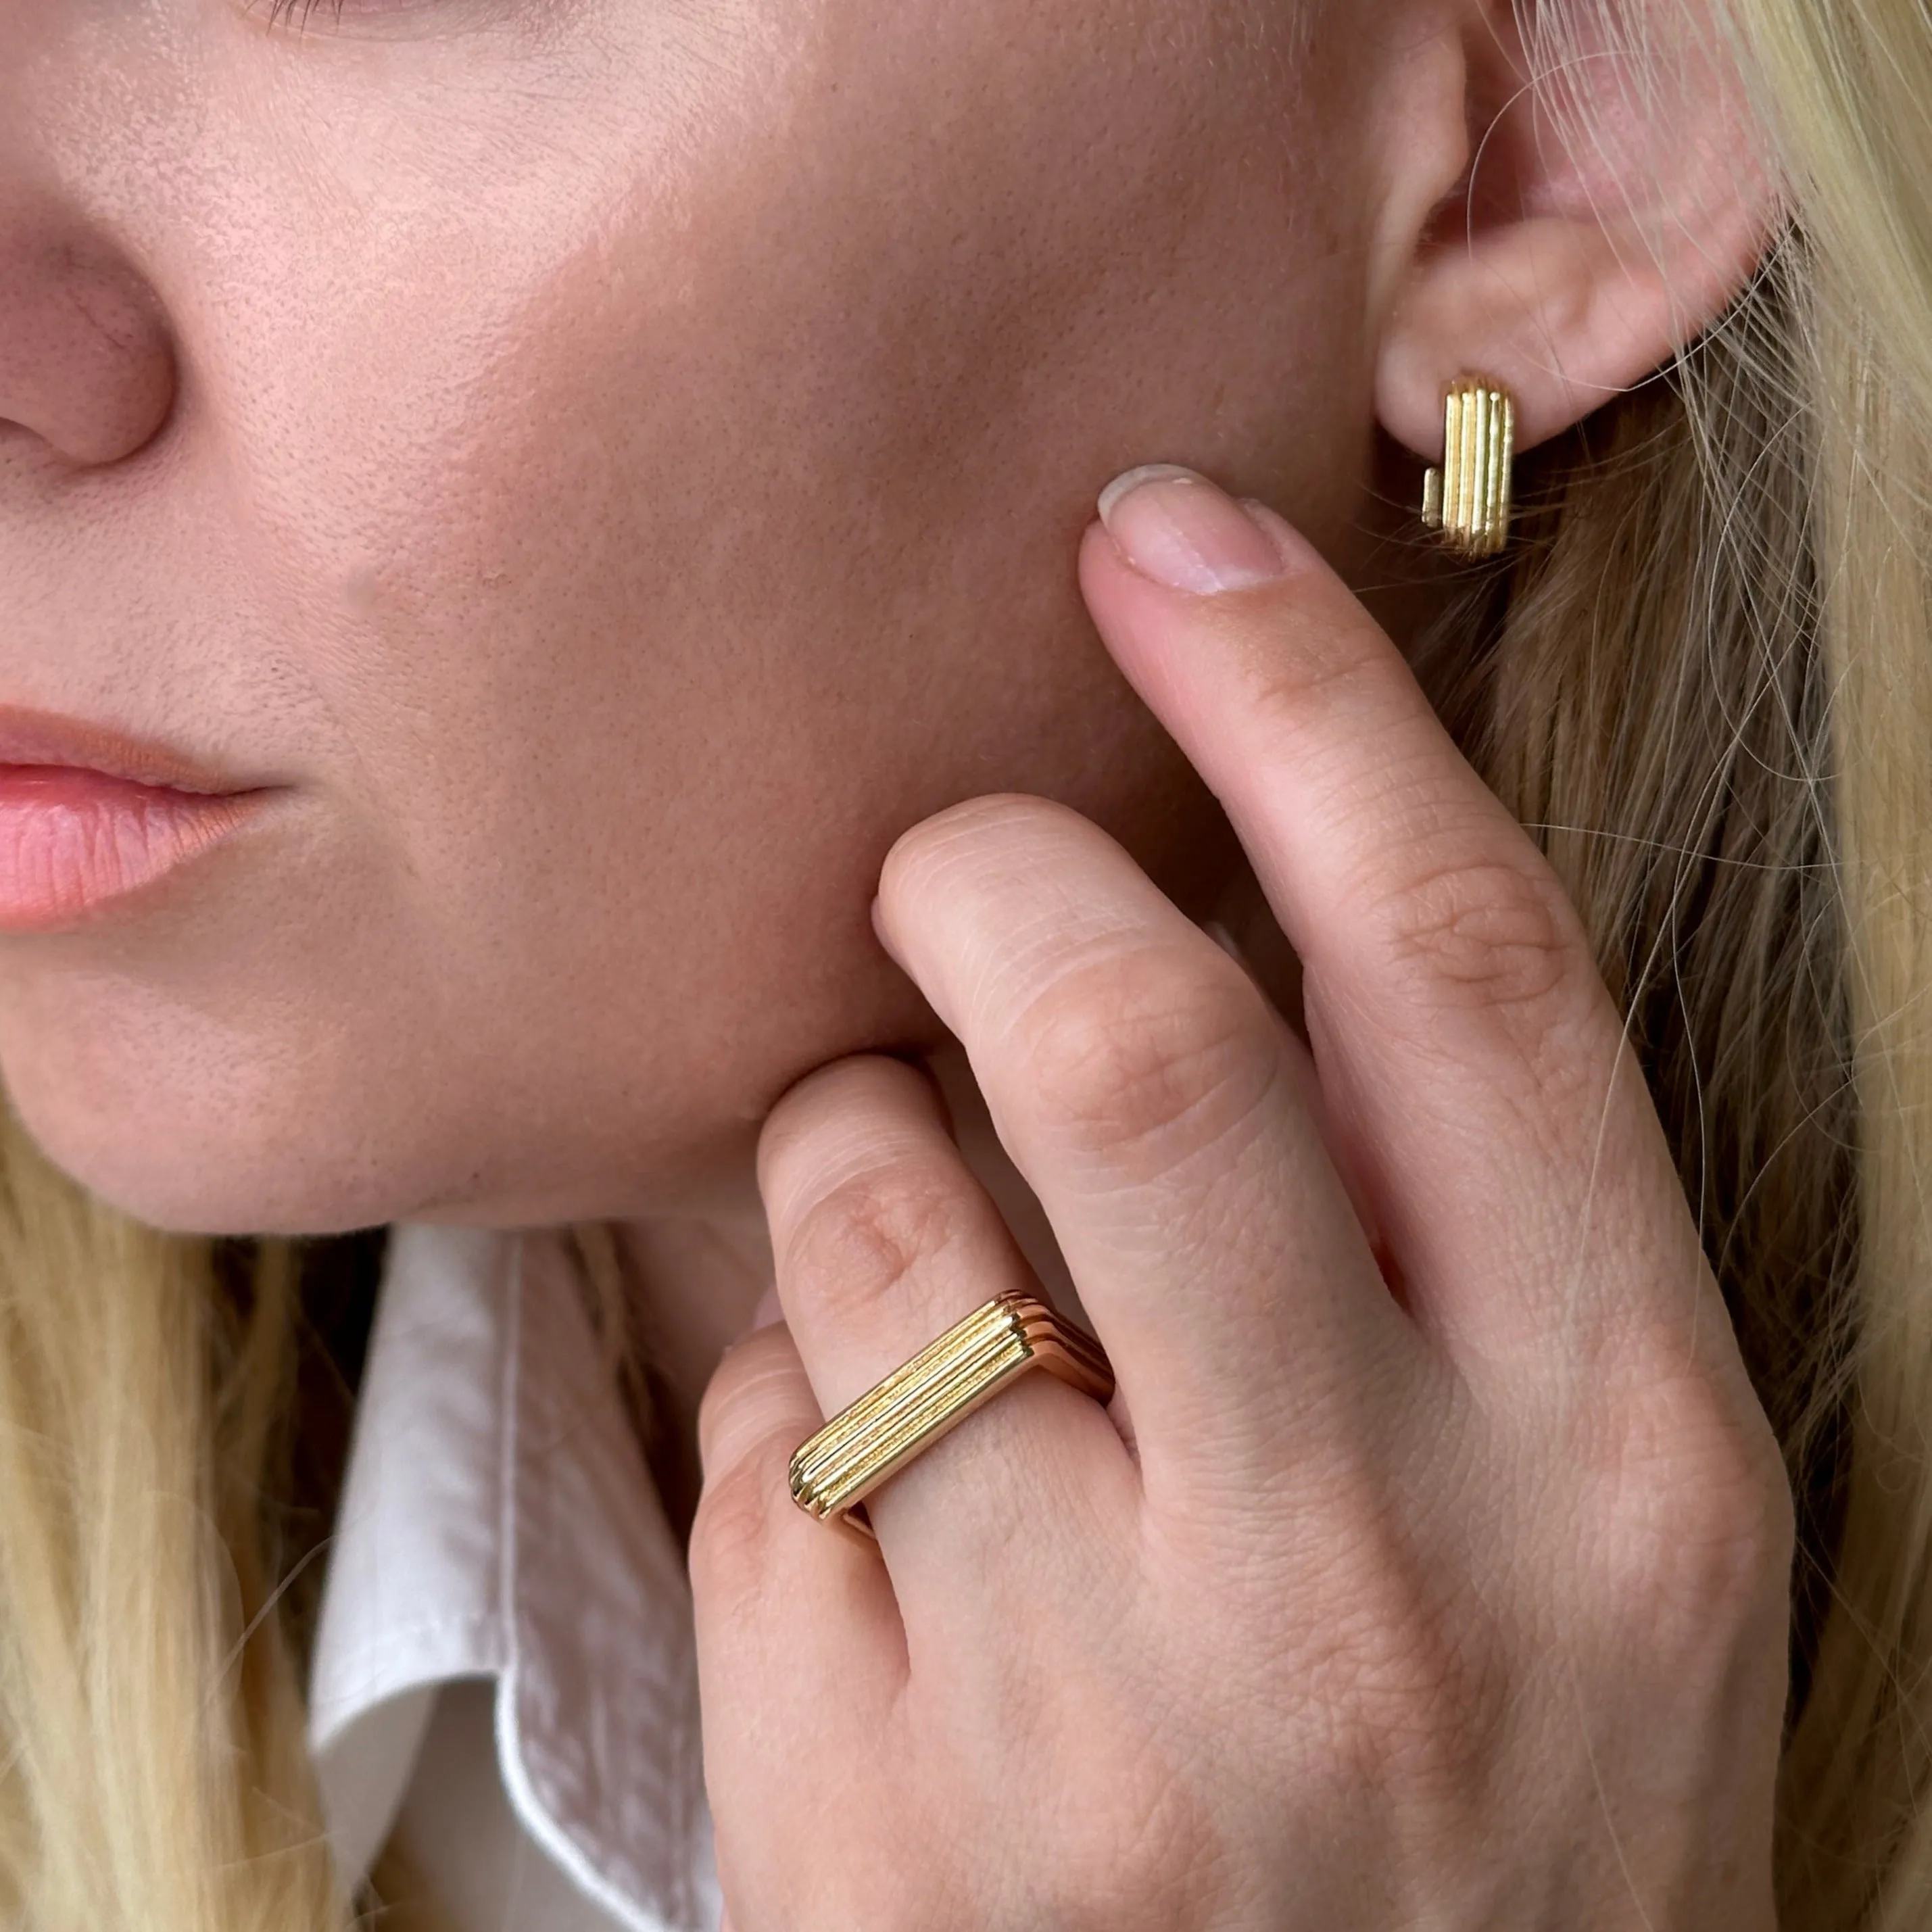
{"type": "Polygon", "coordinates": [[[1285,1466],[1414,1362],[1306,1049],[1105,833],[1037,798],[956,806],[893,848],[879,925],[1053,1221],[1150,1495],[1285,1466]]]}

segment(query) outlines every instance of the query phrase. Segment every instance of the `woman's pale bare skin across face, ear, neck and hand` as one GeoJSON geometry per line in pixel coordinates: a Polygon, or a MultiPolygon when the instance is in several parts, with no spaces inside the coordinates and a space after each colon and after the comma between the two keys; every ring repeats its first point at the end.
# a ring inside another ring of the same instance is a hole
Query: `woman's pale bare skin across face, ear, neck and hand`
{"type": "Polygon", "coordinates": [[[1575,158],[1478,0],[0,44],[0,701],[274,792],[0,941],[8,1088],[168,1227],[628,1223],[732,1932],[1768,1932],[1777,1455],[1385,568],[1451,377],[1536,442],[1743,284],[1718,71],[1575,158]],[[873,1548],[792,1445],[1028,1279],[949,1041],[1121,1393],[873,1548]]]}

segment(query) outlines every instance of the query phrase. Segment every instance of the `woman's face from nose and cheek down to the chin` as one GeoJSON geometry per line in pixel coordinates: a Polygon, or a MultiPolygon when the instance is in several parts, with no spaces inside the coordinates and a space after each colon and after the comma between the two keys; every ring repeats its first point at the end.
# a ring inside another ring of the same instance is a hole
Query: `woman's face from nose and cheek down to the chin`
{"type": "Polygon", "coordinates": [[[1179,460],[1350,554],[1360,0],[0,0],[0,703],[272,786],[0,939],[164,1225],[647,1211],[931,1020],[879,858],[1208,800],[1080,612],[1179,460]]]}

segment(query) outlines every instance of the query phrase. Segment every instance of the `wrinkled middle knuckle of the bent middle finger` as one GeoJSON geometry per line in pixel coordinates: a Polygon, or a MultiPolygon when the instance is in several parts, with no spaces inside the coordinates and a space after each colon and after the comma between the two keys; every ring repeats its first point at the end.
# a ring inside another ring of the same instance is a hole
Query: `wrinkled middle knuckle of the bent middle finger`
{"type": "Polygon", "coordinates": [[[1026,1009],[1020,1055],[1049,1132],[1165,1171],[1221,1144],[1271,1092],[1281,1041],[1233,962],[1136,949],[1026,1009]]]}

